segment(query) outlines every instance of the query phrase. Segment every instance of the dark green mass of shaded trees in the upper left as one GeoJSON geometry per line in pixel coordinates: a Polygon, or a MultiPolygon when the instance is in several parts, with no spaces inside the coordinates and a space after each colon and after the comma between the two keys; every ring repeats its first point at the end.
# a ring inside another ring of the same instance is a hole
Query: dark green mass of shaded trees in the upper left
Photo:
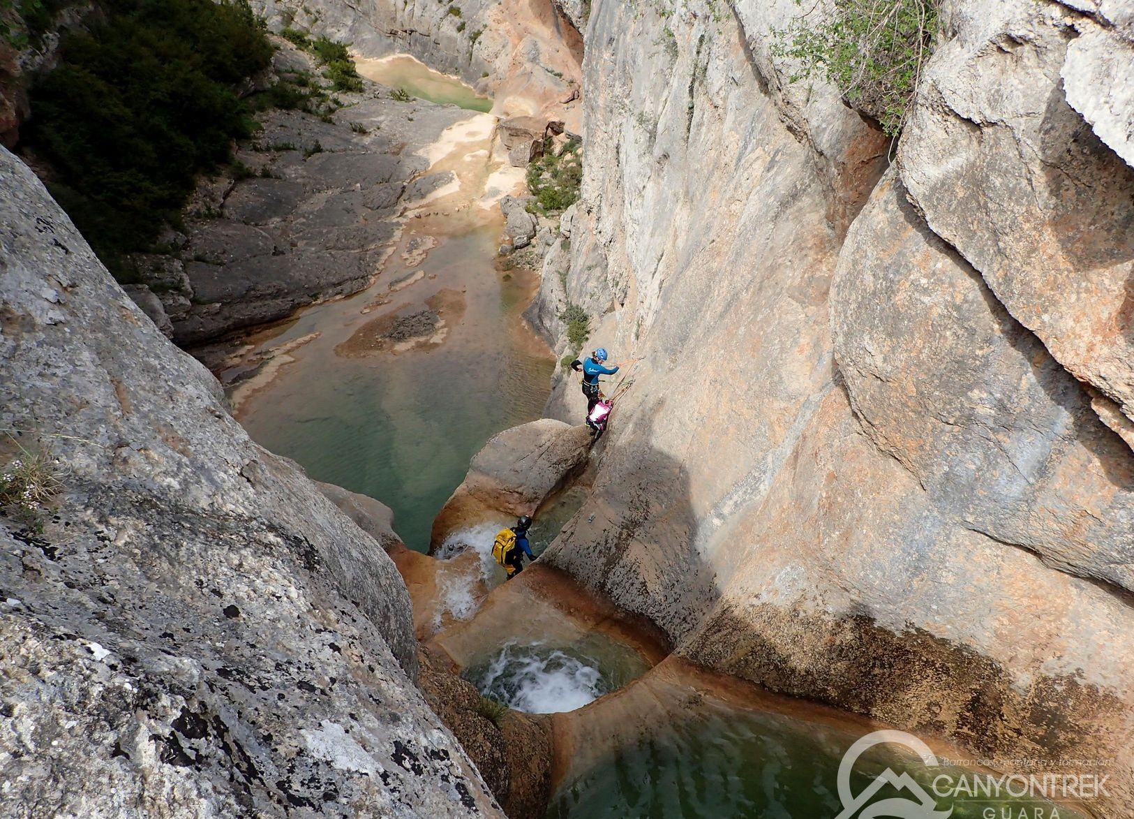
{"type": "Polygon", "coordinates": [[[176,222],[195,177],[253,133],[235,87],[272,47],[247,2],[108,0],[107,19],[69,36],[32,88],[28,141],[49,187],[119,279],[124,254],[176,222]]]}

